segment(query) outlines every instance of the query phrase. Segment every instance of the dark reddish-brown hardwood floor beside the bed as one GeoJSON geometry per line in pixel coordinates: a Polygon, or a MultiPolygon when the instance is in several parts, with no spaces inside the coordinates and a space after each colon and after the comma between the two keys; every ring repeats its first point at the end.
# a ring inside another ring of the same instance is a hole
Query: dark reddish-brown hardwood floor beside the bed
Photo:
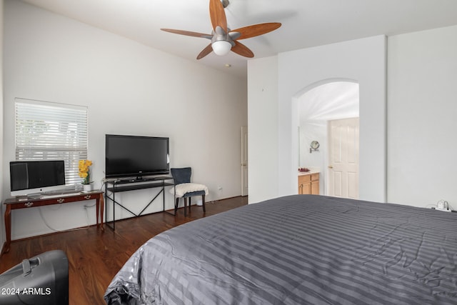
{"type": "Polygon", "coordinates": [[[9,253],[0,258],[0,274],[23,259],[61,249],[69,260],[69,304],[105,304],[106,287],[141,244],[174,226],[246,205],[247,201],[247,197],[235,197],[206,203],[205,214],[201,206],[192,206],[186,217],[184,209],[179,209],[177,216],[157,213],[116,221],[116,231],[90,226],[13,241],[9,253]]]}

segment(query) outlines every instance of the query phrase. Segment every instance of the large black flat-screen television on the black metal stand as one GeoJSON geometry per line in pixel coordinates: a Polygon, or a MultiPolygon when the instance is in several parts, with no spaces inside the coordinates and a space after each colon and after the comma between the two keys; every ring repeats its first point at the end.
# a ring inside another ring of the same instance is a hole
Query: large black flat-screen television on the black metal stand
{"type": "Polygon", "coordinates": [[[169,138],[106,134],[106,178],[169,174],[169,138]]]}

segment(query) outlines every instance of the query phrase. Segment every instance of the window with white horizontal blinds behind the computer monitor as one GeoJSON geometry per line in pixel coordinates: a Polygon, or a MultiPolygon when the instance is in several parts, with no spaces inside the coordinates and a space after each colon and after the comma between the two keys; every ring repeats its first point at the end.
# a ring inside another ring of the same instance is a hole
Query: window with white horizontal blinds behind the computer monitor
{"type": "Polygon", "coordinates": [[[64,160],[67,185],[87,159],[87,107],[15,99],[16,161],[64,160]]]}

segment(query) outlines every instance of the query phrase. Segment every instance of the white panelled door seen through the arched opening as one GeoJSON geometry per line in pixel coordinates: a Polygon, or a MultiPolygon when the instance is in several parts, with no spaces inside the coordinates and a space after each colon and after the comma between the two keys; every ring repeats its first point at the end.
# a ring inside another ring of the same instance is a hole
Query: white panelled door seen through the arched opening
{"type": "Polygon", "coordinates": [[[328,194],[358,199],[358,118],[328,121],[328,194]]]}

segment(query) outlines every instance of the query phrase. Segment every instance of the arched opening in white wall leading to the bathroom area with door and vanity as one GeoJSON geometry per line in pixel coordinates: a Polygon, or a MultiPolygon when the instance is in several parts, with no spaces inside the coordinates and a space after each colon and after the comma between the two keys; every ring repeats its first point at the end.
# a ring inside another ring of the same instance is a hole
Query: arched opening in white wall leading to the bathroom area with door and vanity
{"type": "Polygon", "coordinates": [[[319,194],[358,197],[358,144],[354,142],[356,140],[358,143],[358,130],[354,134],[351,127],[346,128],[350,123],[356,124],[358,129],[358,82],[348,79],[318,81],[299,91],[293,96],[293,100],[296,104],[298,124],[298,168],[305,167],[320,173],[319,194]],[[347,137],[341,136],[341,130],[347,130],[349,134],[352,131],[356,139],[346,143],[347,137]],[[319,147],[313,149],[311,143],[316,141],[319,147]],[[344,154],[344,162],[349,164],[349,167],[346,165],[343,172],[340,171],[341,167],[338,170],[333,169],[335,157],[341,157],[341,150],[338,150],[341,149],[341,141],[344,142],[344,147],[352,144],[353,149],[357,150],[351,151],[350,160],[347,158],[348,154],[344,154]],[[354,161],[356,164],[353,164],[354,161]]]}

